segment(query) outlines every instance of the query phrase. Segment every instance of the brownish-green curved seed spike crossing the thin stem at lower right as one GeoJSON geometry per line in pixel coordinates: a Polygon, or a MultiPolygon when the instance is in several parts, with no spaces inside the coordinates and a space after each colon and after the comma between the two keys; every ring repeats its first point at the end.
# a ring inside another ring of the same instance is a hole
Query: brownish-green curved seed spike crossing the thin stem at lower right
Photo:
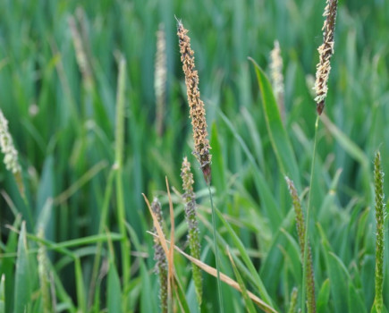
{"type": "MultiPolygon", "coordinates": [[[[305,224],[304,224],[304,214],[302,212],[299,195],[294,183],[288,177],[285,176],[286,183],[288,184],[289,192],[292,197],[294,212],[296,214],[296,227],[299,237],[300,244],[300,253],[301,253],[301,263],[304,264],[304,253],[305,253],[305,224]]],[[[307,288],[307,307],[309,313],[316,312],[316,300],[315,300],[315,276],[313,272],[313,261],[312,261],[312,252],[310,250],[310,245],[308,241],[308,256],[307,256],[307,267],[306,267],[306,288],[307,288]]]]}

